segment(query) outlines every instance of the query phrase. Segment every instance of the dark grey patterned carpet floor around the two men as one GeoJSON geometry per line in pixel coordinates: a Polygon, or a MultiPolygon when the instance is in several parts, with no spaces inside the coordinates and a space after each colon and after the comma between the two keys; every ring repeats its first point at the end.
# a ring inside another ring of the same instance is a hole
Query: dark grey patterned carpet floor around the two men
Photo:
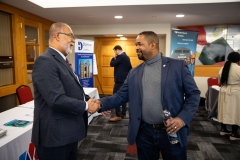
{"type": "MultiPolygon", "coordinates": [[[[108,122],[110,116],[98,116],[92,120],[87,137],[79,143],[79,160],[137,160],[136,147],[127,143],[128,119],[108,122]]],[[[188,159],[239,160],[240,141],[220,136],[220,124],[207,116],[205,108],[199,107],[188,138],[188,159]]]]}

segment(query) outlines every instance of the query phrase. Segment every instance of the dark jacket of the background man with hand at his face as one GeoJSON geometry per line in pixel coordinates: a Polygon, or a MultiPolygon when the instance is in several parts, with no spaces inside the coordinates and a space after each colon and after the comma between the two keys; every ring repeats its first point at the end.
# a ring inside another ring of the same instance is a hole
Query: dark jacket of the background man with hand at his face
{"type": "Polygon", "coordinates": [[[112,60],[110,61],[110,66],[114,67],[115,83],[123,83],[128,75],[129,70],[132,69],[130,59],[125,52],[117,55],[116,59],[112,58],[112,60]]]}

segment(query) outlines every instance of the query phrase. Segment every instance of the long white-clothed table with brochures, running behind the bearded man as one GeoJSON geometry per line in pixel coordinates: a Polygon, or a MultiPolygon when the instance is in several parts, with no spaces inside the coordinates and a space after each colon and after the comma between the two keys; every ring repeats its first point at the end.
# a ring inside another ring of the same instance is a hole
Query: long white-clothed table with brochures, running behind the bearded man
{"type": "MultiPolygon", "coordinates": [[[[91,98],[99,98],[96,88],[84,88],[84,92],[91,98]]],[[[23,128],[4,126],[4,123],[13,119],[33,121],[33,109],[34,102],[31,101],[0,113],[0,128],[7,130],[7,135],[0,139],[0,160],[18,160],[19,156],[28,150],[31,142],[32,123],[23,128]]],[[[93,117],[98,115],[100,114],[89,115],[88,124],[93,117]]]]}

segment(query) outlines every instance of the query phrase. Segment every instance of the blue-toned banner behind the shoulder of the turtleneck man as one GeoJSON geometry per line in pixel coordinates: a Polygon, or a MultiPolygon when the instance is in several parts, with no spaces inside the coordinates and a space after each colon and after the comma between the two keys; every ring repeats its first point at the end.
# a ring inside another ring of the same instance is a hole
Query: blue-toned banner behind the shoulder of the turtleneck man
{"type": "Polygon", "coordinates": [[[185,60],[192,76],[195,69],[197,38],[197,31],[172,29],[170,56],[185,60]]]}

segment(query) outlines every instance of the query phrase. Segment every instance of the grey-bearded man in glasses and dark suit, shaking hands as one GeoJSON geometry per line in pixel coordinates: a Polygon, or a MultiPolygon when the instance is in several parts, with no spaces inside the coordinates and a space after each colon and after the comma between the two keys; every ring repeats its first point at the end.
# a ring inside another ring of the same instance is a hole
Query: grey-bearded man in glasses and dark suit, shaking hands
{"type": "Polygon", "coordinates": [[[32,142],[40,160],[77,160],[78,141],[87,134],[88,112],[98,108],[89,105],[92,99],[66,62],[75,41],[71,28],[54,23],[49,36],[49,48],[36,59],[32,73],[32,142]]]}

